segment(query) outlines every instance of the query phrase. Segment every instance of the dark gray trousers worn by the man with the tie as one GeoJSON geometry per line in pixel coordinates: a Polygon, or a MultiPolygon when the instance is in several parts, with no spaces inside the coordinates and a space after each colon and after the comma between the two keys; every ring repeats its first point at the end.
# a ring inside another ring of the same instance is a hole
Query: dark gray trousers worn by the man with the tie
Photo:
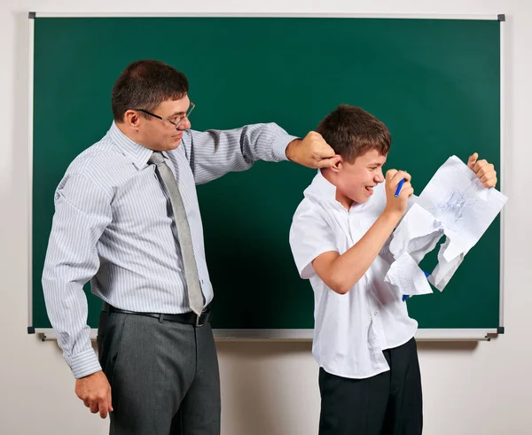
{"type": "Polygon", "coordinates": [[[220,375],[210,324],[102,312],[99,361],[110,435],[219,435],[220,375]]]}

